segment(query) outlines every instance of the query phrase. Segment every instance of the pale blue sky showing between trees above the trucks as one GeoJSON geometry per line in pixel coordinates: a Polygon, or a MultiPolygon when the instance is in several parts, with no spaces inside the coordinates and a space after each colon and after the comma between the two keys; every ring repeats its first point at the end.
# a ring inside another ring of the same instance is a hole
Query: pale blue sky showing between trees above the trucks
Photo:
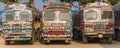
{"type": "MultiPolygon", "coordinates": [[[[27,2],[27,1],[29,1],[29,0],[20,0],[20,1],[21,1],[21,2],[27,2]]],[[[48,0],[48,2],[56,2],[56,0],[48,0]]],[[[34,0],[35,7],[36,7],[37,9],[39,9],[40,11],[43,10],[43,5],[46,4],[46,3],[48,3],[48,2],[44,2],[44,3],[43,3],[42,0],[34,0]]],[[[77,2],[74,2],[74,4],[78,6],[77,2]]],[[[4,8],[5,8],[5,4],[2,3],[2,2],[0,2],[0,11],[4,10],[4,8]]],[[[72,7],[72,9],[75,10],[76,8],[72,7]]],[[[77,10],[78,10],[78,9],[77,9],[77,10]]]]}

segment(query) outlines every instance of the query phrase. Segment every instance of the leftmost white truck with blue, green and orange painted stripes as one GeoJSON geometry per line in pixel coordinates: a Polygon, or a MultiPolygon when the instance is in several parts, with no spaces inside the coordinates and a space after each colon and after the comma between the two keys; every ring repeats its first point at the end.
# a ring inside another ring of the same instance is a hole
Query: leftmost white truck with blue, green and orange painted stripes
{"type": "Polygon", "coordinates": [[[2,14],[2,32],[6,44],[26,41],[33,44],[32,9],[23,3],[7,5],[2,14]]]}

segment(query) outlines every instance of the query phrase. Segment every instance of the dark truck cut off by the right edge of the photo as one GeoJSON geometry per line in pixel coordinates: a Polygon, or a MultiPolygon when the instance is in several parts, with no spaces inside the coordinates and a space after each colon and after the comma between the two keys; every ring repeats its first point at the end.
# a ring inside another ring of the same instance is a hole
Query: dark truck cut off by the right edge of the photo
{"type": "Polygon", "coordinates": [[[115,40],[120,41],[120,4],[113,6],[115,18],[115,40]]]}

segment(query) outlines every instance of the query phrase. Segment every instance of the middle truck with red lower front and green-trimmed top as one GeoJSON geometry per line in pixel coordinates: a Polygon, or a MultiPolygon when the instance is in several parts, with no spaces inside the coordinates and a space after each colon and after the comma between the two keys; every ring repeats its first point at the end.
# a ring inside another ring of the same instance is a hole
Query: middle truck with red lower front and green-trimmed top
{"type": "Polygon", "coordinates": [[[62,40],[71,43],[72,13],[69,3],[49,3],[42,13],[41,40],[43,43],[62,40]]]}

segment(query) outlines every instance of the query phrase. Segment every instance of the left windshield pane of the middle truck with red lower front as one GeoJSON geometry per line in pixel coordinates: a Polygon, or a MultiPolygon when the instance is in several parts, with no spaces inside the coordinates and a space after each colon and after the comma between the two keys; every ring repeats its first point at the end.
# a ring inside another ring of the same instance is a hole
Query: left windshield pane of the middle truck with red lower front
{"type": "Polygon", "coordinates": [[[54,11],[47,11],[44,13],[44,20],[45,21],[54,21],[55,20],[55,13],[54,11]]]}

